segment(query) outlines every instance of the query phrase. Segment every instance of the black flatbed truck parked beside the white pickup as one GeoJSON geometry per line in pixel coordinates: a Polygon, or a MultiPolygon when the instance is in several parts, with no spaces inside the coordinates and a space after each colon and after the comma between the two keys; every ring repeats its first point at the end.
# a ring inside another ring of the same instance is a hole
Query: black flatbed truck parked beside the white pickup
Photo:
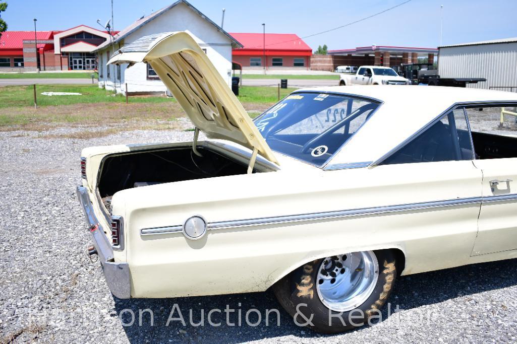
{"type": "Polygon", "coordinates": [[[399,74],[412,81],[414,85],[466,87],[467,84],[477,84],[486,81],[484,77],[440,77],[433,64],[402,65],[399,74]]]}

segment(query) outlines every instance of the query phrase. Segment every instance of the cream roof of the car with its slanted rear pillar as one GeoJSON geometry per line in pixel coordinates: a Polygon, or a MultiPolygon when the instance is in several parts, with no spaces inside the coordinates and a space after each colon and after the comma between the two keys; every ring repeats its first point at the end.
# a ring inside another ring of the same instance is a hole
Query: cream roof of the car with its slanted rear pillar
{"type": "Polygon", "coordinates": [[[454,104],[517,102],[517,93],[462,87],[354,85],[295,92],[342,93],[381,102],[329,164],[374,162],[404,143],[454,104]]]}

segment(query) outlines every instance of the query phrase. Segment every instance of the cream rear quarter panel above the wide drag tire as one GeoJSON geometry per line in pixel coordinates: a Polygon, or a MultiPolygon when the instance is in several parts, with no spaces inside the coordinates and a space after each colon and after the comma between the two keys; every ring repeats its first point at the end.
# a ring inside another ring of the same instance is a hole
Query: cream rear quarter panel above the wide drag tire
{"type": "Polygon", "coordinates": [[[218,222],[478,196],[479,170],[455,163],[465,169],[451,173],[449,162],[290,169],[121,191],[113,203],[125,204],[132,296],[263,291],[307,261],[367,249],[399,248],[404,274],[466,264],[479,205],[211,230],[198,241],[140,234],[194,214],[218,222]]]}

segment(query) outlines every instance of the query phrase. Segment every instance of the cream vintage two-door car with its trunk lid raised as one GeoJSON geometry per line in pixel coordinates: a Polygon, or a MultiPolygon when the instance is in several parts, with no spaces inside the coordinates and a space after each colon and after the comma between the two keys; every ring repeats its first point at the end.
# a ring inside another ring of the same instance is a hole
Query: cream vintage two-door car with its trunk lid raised
{"type": "Polygon", "coordinates": [[[252,121],[188,33],[109,61],[139,62],[195,132],[82,151],[89,253],[117,298],[273,288],[334,333],[378,314],[398,275],[517,257],[516,93],[300,89],[252,121]]]}

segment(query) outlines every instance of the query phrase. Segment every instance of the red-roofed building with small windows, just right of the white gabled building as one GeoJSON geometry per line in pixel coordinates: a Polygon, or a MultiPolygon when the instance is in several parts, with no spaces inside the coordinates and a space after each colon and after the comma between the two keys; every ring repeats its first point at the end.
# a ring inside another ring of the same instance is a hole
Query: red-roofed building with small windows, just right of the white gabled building
{"type": "Polygon", "coordinates": [[[242,68],[309,69],[312,49],[295,34],[230,33],[243,46],[232,50],[242,68]]]}

